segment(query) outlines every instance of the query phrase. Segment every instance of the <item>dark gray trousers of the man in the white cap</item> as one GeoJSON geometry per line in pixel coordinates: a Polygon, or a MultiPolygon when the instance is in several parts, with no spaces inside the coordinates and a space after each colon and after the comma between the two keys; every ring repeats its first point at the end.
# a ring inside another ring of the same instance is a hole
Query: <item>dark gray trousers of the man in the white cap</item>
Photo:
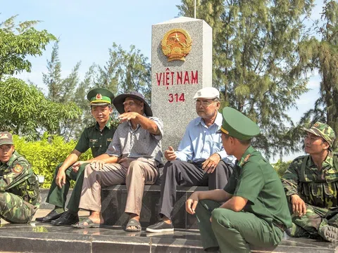
{"type": "Polygon", "coordinates": [[[176,202],[177,186],[208,186],[209,190],[223,189],[232,174],[232,164],[221,160],[211,174],[207,174],[201,163],[173,160],[165,163],[159,200],[160,216],[171,219],[176,202]]]}

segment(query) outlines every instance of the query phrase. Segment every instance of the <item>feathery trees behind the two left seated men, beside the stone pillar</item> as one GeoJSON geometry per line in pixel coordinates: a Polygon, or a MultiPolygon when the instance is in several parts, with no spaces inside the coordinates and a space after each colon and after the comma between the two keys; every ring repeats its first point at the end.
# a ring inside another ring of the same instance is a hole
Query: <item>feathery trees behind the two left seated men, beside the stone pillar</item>
{"type": "MultiPolygon", "coordinates": [[[[87,101],[90,89],[103,87],[115,95],[127,91],[139,91],[151,99],[151,66],[148,58],[134,46],[126,51],[113,43],[109,48],[109,59],[104,66],[93,64],[80,81],[78,70],[80,62],[65,79],[61,78],[61,61],[58,58],[58,42],[53,46],[51,58],[47,61],[48,72],[43,74],[43,82],[49,89],[48,98],[54,102],[69,103],[73,101],[82,109],[82,115],[72,121],[64,121],[55,134],[65,140],[77,139],[85,126],[94,122],[87,101]]],[[[114,110],[114,114],[115,114],[114,110]]]]}

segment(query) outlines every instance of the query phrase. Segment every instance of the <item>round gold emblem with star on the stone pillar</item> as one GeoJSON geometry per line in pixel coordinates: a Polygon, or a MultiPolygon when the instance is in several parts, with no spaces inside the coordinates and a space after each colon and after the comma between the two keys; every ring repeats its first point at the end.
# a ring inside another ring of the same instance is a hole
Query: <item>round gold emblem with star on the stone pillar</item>
{"type": "Polygon", "coordinates": [[[168,62],[185,61],[185,56],[192,50],[192,38],[183,29],[172,29],[164,35],[161,46],[164,55],[168,57],[168,62]]]}

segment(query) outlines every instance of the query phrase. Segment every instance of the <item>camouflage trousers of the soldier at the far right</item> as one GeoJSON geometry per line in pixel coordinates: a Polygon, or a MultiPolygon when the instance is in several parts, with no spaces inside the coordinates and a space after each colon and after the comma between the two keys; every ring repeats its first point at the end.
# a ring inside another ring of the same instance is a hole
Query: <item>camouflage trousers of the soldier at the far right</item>
{"type": "MultiPolygon", "coordinates": [[[[292,205],[289,204],[292,214],[292,205]]],[[[292,214],[292,237],[317,238],[318,228],[330,225],[338,228],[338,207],[329,209],[306,204],[306,214],[299,217],[292,214]]]]}

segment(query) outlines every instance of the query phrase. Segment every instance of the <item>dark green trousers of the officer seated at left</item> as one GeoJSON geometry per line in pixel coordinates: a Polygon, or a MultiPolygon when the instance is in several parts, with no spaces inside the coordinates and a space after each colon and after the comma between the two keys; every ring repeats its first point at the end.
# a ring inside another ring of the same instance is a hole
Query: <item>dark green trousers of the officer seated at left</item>
{"type": "Polygon", "coordinates": [[[56,185],[56,175],[58,174],[58,169],[60,169],[61,164],[58,164],[54,172],[54,178],[51,182],[51,188],[46,199],[46,202],[55,205],[56,207],[65,207],[65,201],[67,200],[68,190],[70,188],[70,180],[75,180],[75,186],[73,188],[73,193],[70,195],[70,199],[67,205],[67,208],[70,212],[79,211],[79,203],[82,191],[83,177],[84,177],[84,168],[88,163],[81,164],[79,170],[74,172],[72,167],[69,167],[65,170],[65,185],[62,188],[59,188],[56,185]]]}

